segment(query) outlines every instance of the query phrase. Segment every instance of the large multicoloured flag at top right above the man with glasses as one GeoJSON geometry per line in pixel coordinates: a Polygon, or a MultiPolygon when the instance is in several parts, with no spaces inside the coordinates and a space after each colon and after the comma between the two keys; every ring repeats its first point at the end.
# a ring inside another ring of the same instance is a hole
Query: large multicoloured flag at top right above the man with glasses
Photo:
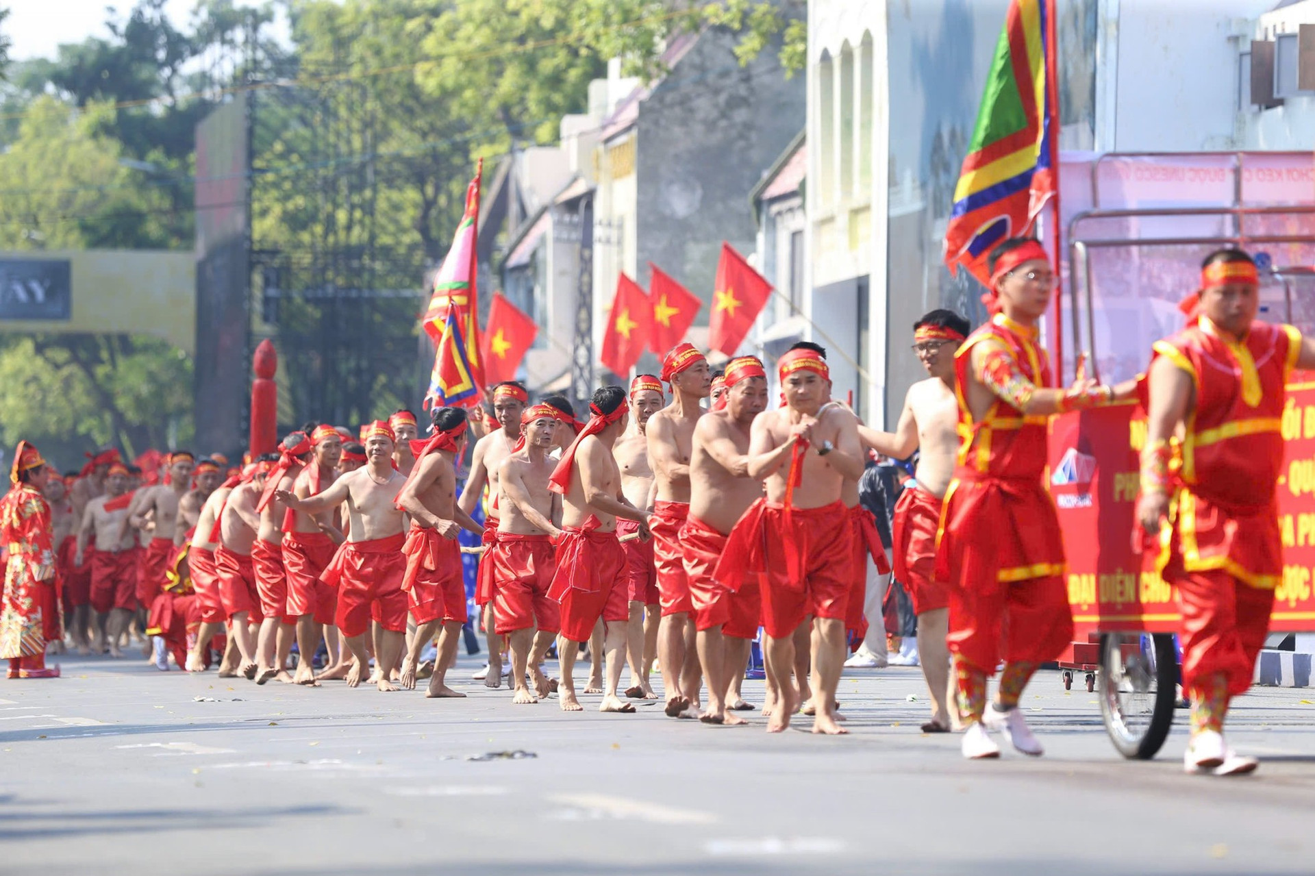
{"type": "Polygon", "coordinates": [[[945,228],[945,264],[990,283],[997,243],[1026,234],[1059,191],[1055,0],[1014,0],[945,228]]]}

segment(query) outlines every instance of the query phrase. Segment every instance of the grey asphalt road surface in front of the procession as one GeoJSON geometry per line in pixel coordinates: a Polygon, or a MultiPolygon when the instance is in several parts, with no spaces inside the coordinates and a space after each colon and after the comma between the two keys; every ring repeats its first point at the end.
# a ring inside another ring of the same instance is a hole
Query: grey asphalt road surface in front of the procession
{"type": "Polygon", "coordinates": [[[514,706],[466,656],[467,700],[62,659],[0,683],[0,873],[1315,871],[1302,689],[1237,704],[1232,742],[1262,764],[1220,780],[1182,775],[1181,721],[1157,760],[1122,760],[1055,672],[1024,698],[1047,755],[967,763],[919,733],[907,668],[847,675],[852,733],[822,738],[514,706]],[[468,760],[506,750],[537,756],[468,760]]]}

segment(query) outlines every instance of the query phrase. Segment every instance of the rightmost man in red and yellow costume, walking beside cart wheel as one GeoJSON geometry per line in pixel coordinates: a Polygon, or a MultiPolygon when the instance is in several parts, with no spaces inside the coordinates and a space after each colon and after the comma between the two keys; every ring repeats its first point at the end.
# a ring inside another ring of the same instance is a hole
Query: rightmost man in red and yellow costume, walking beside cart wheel
{"type": "Polygon", "coordinates": [[[1182,687],[1191,700],[1184,766],[1193,773],[1257,766],[1224,742],[1224,716],[1251,687],[1283,579],[1276,487],[1285,385],[1294,368],[1315,367],[1315,345],[1301,331],[1256,320],[1258,285],[1249,255],[1211,253],[1201,291],[1184,304],[1187,326],[1156,342],[1148,374],[1137,518],[1168,543],[1161,573],[1182,612],[1182,687]],[[1181,468],[1172,474],[1178,434],[1181,468]]]}

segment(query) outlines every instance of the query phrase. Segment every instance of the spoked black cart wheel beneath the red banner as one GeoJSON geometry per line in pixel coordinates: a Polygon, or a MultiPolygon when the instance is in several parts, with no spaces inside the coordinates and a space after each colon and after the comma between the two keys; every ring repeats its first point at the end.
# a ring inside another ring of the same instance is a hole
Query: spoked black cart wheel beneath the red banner
{"type": "Polygon", "coordinates": [[[1178,660],[1168,634],[1101,637],[1101,717],[1124,758],[1149,760],[1173,725],[1178,660]]]}

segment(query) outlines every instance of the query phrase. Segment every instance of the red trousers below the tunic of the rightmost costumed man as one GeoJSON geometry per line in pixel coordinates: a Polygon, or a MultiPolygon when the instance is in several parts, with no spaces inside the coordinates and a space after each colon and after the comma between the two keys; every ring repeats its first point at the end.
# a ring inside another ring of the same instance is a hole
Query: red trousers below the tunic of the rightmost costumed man
{"type": "Polygon", "coordinates": [[[1184,688],[1191,691],[1198,680],[1222,673],[1230,696],[1245,693],[1269,634],[1274,591],[1251,587],[1222,570],[1187,572],[1173,583],[1182,612],[1184,688]]]}

